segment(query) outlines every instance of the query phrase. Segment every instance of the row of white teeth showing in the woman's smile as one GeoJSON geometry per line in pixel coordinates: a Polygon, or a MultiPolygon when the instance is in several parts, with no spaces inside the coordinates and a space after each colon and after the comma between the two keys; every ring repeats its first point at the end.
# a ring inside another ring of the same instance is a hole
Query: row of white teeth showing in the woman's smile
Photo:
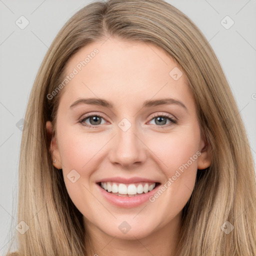
{"type": "Polygon", "coordinates": [[[106,191],[119,196],[136,196],[147,193],[155,187],[155,183],[140,182],[137,184],[123,184],[117,182],[100,182],[100,186],[106,191]]]}

